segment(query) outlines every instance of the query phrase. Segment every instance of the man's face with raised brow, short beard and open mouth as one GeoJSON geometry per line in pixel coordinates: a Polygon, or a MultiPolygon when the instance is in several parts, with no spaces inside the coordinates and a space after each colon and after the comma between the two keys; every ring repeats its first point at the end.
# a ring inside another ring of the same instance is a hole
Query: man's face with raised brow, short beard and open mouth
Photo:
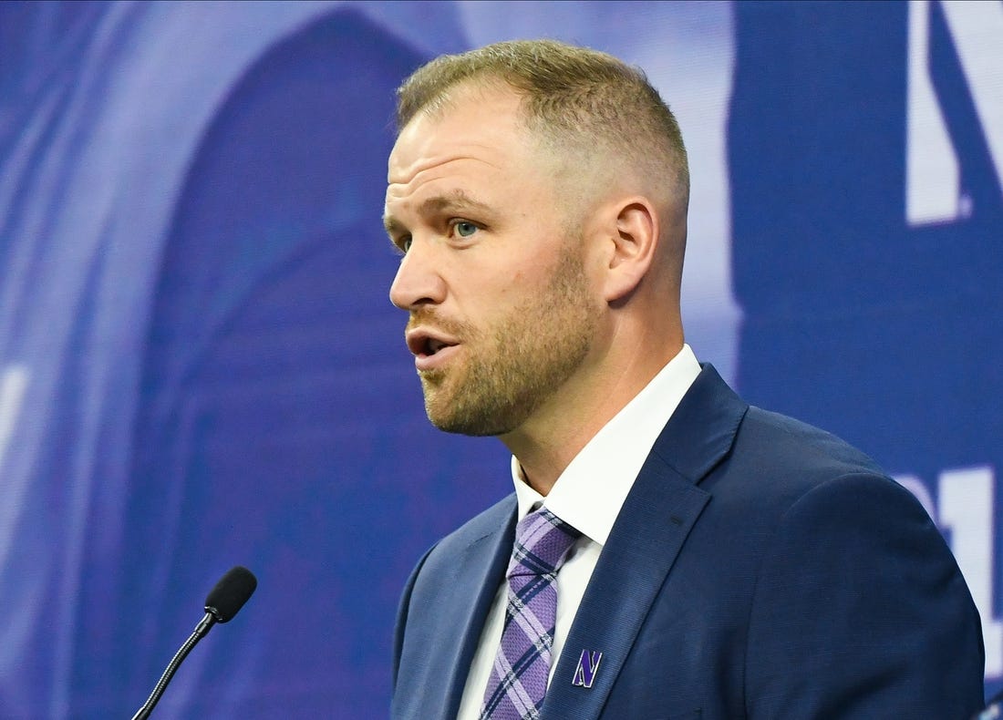
{"type": "Polygon", "coordinates": [[[407,345],[440,429],[518,430],[588,356],[598,309],[542,154],[515,93],[476,89],[415,117],[390,154],[385,220],[405,252],[390,299],[410,313],[407,345]]]}

